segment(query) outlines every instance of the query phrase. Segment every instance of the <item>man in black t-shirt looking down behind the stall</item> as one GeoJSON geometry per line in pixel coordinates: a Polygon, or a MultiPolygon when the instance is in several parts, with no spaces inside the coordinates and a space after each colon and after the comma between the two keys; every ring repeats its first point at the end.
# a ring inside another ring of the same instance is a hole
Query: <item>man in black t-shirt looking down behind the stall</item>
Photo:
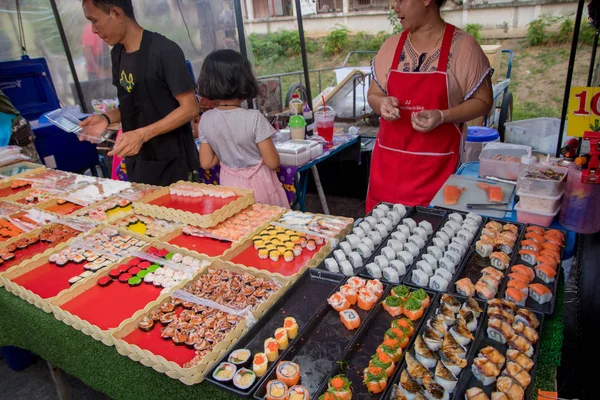
{"type": "Polygon", "coordinates": [[[81,123],[101,137],[121,122],[109,155],[125,158],[129,180],[166,186],[188,180],[200,167],[190,121],[198,115],[195,83],[183,52],[166,37],[138,25],[131,0],[83,0],[92,29],[110,46],[119,108],[81,123]]]}

